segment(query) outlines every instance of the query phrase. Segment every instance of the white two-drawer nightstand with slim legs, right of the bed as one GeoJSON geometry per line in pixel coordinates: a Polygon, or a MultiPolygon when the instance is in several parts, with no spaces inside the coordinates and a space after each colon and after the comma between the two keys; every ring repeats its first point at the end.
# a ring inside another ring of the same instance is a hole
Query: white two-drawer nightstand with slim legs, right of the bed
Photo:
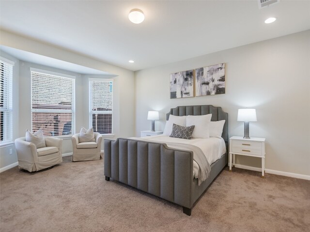
{"type": "Polygon", "coordinates": [[[244,139],[233,136],[229,139],[229,171],[235,165],[235,155],[253,156],[262,158],[262,178],[265,174],[265,138],[244,139]],[[232,159],[233,155],[233,159],[232,159]]]}

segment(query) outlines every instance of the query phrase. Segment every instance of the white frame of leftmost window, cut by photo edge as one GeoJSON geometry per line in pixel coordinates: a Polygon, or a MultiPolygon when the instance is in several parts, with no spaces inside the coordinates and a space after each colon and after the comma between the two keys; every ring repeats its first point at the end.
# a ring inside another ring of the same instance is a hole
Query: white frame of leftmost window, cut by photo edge
{"type": "Polygon", "coordinates": [[[0,111],[4,113],[3,140],[0,141],[0,145],[5,145],[13,141],[13,66],[15,62],[3,57],[0,57],[0,61],[7,69],[3,82],[3,107],[0,107],[0,111]]]}

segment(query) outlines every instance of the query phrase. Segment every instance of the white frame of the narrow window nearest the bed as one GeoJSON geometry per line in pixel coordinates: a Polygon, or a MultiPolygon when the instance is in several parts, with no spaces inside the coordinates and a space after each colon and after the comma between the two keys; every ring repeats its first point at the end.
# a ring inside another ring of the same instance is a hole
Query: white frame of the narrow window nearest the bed
{"type": "Polygon", "coordinates": [[[89,78],[88,79],[88,85],[89,85],[89,127],[93,127],[93,114],[112,114],[112,121],[111,121],[111,133],[102,133],[101,135],[104,137],[113,136],[113,121],[114,121],[114,80],[108,79],[108,78],[89,78]],[[91,82],[93,81],[101,81],[101,82],[112,82],[112,111],[93,111],[93,89],[91,86],[91,82]]]}

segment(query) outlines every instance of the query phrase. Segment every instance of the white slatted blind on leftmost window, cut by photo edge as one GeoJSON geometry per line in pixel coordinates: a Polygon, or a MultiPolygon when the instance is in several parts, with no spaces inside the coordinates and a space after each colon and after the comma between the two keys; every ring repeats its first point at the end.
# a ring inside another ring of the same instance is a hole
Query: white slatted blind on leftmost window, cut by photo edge
{"type": "Polygon", "coordinates": [[[0,60],[0,143],[13,140],[12,83],[13,65],[0,60]]]}

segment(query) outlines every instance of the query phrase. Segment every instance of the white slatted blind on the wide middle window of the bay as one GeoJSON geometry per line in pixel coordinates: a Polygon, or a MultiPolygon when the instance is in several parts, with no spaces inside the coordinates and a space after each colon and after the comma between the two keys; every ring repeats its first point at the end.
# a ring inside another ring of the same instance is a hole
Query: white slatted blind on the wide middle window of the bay
{"type": "Polygon", "coordinates": [[[31,130],[44,136],[72,135],[75,79],[31,71],[31,130]]]}

